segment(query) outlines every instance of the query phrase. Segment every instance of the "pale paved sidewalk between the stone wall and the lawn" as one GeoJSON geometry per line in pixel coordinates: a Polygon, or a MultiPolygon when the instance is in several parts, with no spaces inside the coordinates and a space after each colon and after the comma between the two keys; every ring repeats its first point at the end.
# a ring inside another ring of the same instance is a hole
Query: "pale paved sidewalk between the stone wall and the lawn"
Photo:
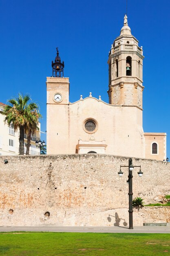
{"type": "Polygon", "coordinates": [[[6,226],[0,227],[0,232],[10,231],[46,231],[46,232],[91,232],[91,233],[168,233],[170,226],[138,226],[134,229],[128,227],[57,227],[57,226],[6,226]]]}

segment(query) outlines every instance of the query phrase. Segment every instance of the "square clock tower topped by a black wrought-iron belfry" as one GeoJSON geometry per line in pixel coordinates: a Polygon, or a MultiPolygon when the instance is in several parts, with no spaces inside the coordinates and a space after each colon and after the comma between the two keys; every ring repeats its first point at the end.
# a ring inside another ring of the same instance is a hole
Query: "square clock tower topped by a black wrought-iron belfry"
{"type": "MultiPolygon", "coordinates": [[[[62,122],[67,123],[68,103],[69,103],[69,78],[64,77],[64,61],[61,62],[57,48],[57,56],[52,61],[53,76],[46,78],[47,90],[47,153],[51,154],[54,147],[62,144],[60,130],[62,122]],[[62,117],[62,119],[60,118],[62,117]],[[53,120],[53,121],[52,121],[53,120]],[[50,145],[50,146],[49,146],[50,145]],[[52,149],[52,151],[51,151],[52,149]]],[[[66,127],[66,126],[65,126],[66,127]]],[[[67,131],[65,131],[67,134],[67,131]]]]}

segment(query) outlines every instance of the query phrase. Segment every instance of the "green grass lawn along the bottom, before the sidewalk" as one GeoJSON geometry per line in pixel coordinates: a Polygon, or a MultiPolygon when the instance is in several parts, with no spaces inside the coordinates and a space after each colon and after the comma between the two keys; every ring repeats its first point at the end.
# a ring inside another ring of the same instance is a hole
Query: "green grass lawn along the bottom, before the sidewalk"
{"type": "Polygon", "coordinates": [[[0,255],[170,255],[170,234],[8,232],[0,255]]]}

